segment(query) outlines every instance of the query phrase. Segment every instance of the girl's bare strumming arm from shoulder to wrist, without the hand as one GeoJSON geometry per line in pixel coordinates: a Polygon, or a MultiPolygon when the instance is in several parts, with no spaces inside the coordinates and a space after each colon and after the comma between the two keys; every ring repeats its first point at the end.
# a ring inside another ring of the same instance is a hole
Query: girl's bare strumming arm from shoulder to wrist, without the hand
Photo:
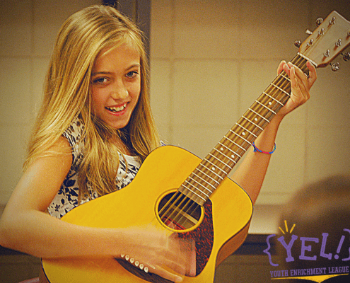
{"type": "MultiPolygon", "coordinates": [[[[62,138],[52,151],[64,152],[66,146],[68,141],[62,138]]],[[[100,238],[100,231],[67,224],[45,212],[69,172],[71,160],[71,154],[55,154],[37,158],[28,167],[1,217],[1,246],[44,258],[106,253],[106,237],[100,238]],[[88,247],[93,238],[100,239],[95,241],[100,247],[88,247]]]]}

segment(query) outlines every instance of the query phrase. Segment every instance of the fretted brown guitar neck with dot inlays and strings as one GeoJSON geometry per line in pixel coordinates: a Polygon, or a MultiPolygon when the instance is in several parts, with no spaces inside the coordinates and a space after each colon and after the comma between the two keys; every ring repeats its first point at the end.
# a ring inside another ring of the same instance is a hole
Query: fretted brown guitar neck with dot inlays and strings
{"type": "MultiPolygon", "coordinates": [[[[308,74],[307,61],[298,54],[291,62],[308,74]]],[[[284,106],[290,93],[291,80],[282,71],[182,183],[180,192],[203,205],[284,106]]]]}

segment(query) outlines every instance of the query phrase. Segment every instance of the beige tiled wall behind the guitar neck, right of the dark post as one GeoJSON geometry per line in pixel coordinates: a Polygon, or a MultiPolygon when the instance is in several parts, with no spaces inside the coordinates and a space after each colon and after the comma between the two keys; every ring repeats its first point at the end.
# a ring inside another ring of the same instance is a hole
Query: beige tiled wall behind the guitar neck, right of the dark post
{"type": "MultiPolygon", "coordinates": [[[[333,10],[350,20],[349,0],[153,0],[151,102],[163,139],[204,158],[333,10]]],[[[305,183],[350,172],[350,62],[339,60],[337,72],[317,70],[308,103],[282,122],[250,233],[274,232],[305,183]]]]}

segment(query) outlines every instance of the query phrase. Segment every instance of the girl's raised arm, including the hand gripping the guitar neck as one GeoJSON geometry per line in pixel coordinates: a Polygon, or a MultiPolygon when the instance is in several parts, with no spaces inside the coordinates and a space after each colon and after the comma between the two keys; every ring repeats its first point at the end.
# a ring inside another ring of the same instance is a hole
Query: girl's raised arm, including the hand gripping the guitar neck
{"type": "MultiPolygon", "coordinates": [[[[286,105],[279,110],[277,115],[255,140],[255,145],[258,149],[267,152],[272,151],[281,120],[286,114],[298,108],[310,98],[309,91],[317,76],[313,64],[308,62],[307,66],[310,70],[309,76],[305,76],[301,69],[293,66],[291,63],[286,64],[286,62],[282,61],[279,64],[277,72],[280,73],[284,70],[291,78],[291,98],[288,99],[286,105]]],[[[232,175],[232,179],[244,188],[252,199],[253,204],[257,200],[262,187],[270,158],[271,154],[262,154],[250,149],[243,162],[232,175]]]]}

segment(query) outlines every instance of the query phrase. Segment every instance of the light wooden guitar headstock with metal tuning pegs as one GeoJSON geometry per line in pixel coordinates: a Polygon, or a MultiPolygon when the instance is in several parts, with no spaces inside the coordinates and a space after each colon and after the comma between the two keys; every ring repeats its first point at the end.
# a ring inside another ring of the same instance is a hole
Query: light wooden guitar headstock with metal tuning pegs
{"type": "MultiPolygon", "coordinates": [[[[332,11],[325,21],[317,19],[318,27],[313,32],[307,30],[309,37],[300,45],[299,54],[309,59],[316,67],[325,67],[332,62],[342,51],[350,45],[350,22],[336,11],[332,11]]],[[[350,54],[343,54],[344,60],[350,58],[350,54]]],[[[337,64],[332,64],[333,71],[339,69],[337,64]]]]}

